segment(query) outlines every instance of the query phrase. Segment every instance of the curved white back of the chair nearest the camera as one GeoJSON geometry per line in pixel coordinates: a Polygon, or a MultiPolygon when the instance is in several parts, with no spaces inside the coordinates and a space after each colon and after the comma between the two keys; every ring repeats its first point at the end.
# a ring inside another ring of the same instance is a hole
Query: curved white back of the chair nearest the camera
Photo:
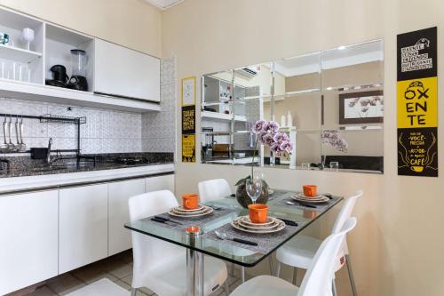
{"type": "Polygon", "coordinates": [[[314,255],[297,296],[331,296],[337,252],[345,235],[356,225],[356,218],[345,220],[343,228],[327,237],[314,255]]]}

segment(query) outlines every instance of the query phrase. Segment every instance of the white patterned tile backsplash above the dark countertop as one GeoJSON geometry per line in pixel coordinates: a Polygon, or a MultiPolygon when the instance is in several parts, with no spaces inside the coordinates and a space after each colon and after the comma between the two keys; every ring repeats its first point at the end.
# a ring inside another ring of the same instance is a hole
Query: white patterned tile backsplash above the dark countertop
{"type": "MultiPolygon", "coordinates": [[[[175,60],[161,63],[161,112],[147,114],[83,108],[50,104],[32,100],[0,98],[0,113],[41,116],[86,116],[81,125],[83,154],[123,152],[174,152],[175,149],[175,60]],[[68,110],[68,108],[71,108],[68,110]]],[[[4,118],[0,118],[3,122],[4,118]]],[[[16,118],[12,118],[15,122],[16,118]]],[[[47,147],[52,138],[52,149],[74,149],[75,125],[41,124],[38,120],[24,119],[24,142],[27,148],[47,147]]],[[[1,123],[0,123],[1,124],[1,123]]],[[[14,129],[13,129],[14,130],[14,129]]],[[[0,135],[3,142],[3,128],[0,135]]],[[[15,131],[12,131],[15,142],[15,131]]]]}

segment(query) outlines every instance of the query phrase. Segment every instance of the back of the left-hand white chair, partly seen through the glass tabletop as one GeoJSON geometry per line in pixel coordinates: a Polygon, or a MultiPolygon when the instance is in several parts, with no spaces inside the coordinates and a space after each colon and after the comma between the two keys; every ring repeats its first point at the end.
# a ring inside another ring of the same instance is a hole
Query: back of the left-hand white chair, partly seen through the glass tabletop
{"type": "MultiPolygon", "coordinates": [[[[132,196],[128,204],[132,222],[168,212],[170,208],[178,206],[178,201],[169,190],[161,190],[132,196]]],[[[162,231],[162,226],[159,228],[162,231]]],[[[132,286],[136,288],[143,285],[151,269],[163,266],[178,256],[186,255],[185,248],[136,231],[131,231],[131,239],[134,259],[132,286]]]]}

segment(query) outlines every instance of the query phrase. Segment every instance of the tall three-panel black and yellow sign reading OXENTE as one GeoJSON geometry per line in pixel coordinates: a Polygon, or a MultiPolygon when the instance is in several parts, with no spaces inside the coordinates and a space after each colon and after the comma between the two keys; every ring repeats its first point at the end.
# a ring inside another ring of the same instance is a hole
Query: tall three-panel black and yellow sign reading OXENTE
{"type": "Polygon", "coordinates": [[[398,174],[438,176],[437,28],[398,35],[398,174]]]}

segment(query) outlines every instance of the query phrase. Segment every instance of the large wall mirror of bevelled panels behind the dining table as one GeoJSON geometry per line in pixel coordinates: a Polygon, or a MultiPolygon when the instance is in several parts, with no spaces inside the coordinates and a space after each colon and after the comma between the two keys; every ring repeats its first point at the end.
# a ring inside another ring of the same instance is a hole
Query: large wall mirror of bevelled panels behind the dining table
{"type": "Polygon", "coordinates": [[[384,172],[383,48],[378,40],[202,76],[202,163],[384,172]],[[280,124],[290,156],[256,144],[259,119],[280,124]]]}

